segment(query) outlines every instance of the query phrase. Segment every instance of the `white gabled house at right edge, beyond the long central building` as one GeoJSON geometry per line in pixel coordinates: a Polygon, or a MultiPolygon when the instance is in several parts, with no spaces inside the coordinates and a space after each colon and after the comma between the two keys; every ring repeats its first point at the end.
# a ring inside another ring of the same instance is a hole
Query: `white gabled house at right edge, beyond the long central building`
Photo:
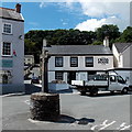
{"type": "Polygon", "coordinates": [[[112,45],[114,67],[132,68],[132,43],[116,43],[112,45]]]}

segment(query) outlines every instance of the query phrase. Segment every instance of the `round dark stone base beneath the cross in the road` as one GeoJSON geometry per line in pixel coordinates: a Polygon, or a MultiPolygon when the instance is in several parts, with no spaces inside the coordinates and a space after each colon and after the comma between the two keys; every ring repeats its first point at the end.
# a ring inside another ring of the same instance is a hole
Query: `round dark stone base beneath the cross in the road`
{"type": "Polygon", "coordinates": [[[31,95],[31,119],[57,121],[59,118],[59,95],[35,92],[31,95]]]}

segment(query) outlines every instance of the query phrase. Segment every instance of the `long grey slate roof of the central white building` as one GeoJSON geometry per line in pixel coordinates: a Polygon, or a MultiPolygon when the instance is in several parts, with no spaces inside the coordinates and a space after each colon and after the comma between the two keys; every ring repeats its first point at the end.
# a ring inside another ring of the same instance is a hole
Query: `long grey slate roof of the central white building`
{"type": "Polygon", "coordinates": [[[109,47],[103,45],[52,45],[52,55],[112,55],[109,47]]]}

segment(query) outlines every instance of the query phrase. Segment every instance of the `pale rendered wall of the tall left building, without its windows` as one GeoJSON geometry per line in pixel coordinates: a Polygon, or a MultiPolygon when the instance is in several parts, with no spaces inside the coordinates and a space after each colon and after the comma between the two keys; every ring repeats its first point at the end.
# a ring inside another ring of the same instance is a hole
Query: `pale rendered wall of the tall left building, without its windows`
{"type": "Polygon", "coordinates": [[[0,31],[0,34],[2,34],[2,38],[0,40],[0,47],[2,47],[2,42],[11,42],[12,52],[13,50],[15,50],[15,53],[16,53],[16,56],[12,54],[12,56],[3,57],[2,51],[0,50],[0,56],[1,56],[0,59],[12,62],[12,66],[0,67],[1,70],[8,69],[12,72],[12,84],[2,85],[2,89],[3,89],[3,92],[23,91],[24,90],[24,78],[23,78],[24,77],[23,76],[24,74],[23,72],[23,68],[24,68],[24,22],[2,19],[2,23],[12,24],[12,34],[7,35],[2,33],[2,30],[0,31]],[[20,35],[22,35],[22,38],[19,37],[20,35]]]}

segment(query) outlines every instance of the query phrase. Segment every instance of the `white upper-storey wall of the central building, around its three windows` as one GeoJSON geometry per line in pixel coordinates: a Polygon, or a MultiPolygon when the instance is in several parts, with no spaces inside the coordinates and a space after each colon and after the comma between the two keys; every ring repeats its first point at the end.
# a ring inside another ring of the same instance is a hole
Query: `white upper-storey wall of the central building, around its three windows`
{"type": "Polygon", "coordinates": [[[78,67],[70,67],[70,56],[64,56],[64,66],[55,67],[55,56],[52,56],[48,62],[48,70],[103,70],[113,67],[113,56],[94,56],[94,67],[85,66],[85,56],[78,56],[78,67]],[[108,58],[109,64],[98,64],[98,58],[108,58]]]}

